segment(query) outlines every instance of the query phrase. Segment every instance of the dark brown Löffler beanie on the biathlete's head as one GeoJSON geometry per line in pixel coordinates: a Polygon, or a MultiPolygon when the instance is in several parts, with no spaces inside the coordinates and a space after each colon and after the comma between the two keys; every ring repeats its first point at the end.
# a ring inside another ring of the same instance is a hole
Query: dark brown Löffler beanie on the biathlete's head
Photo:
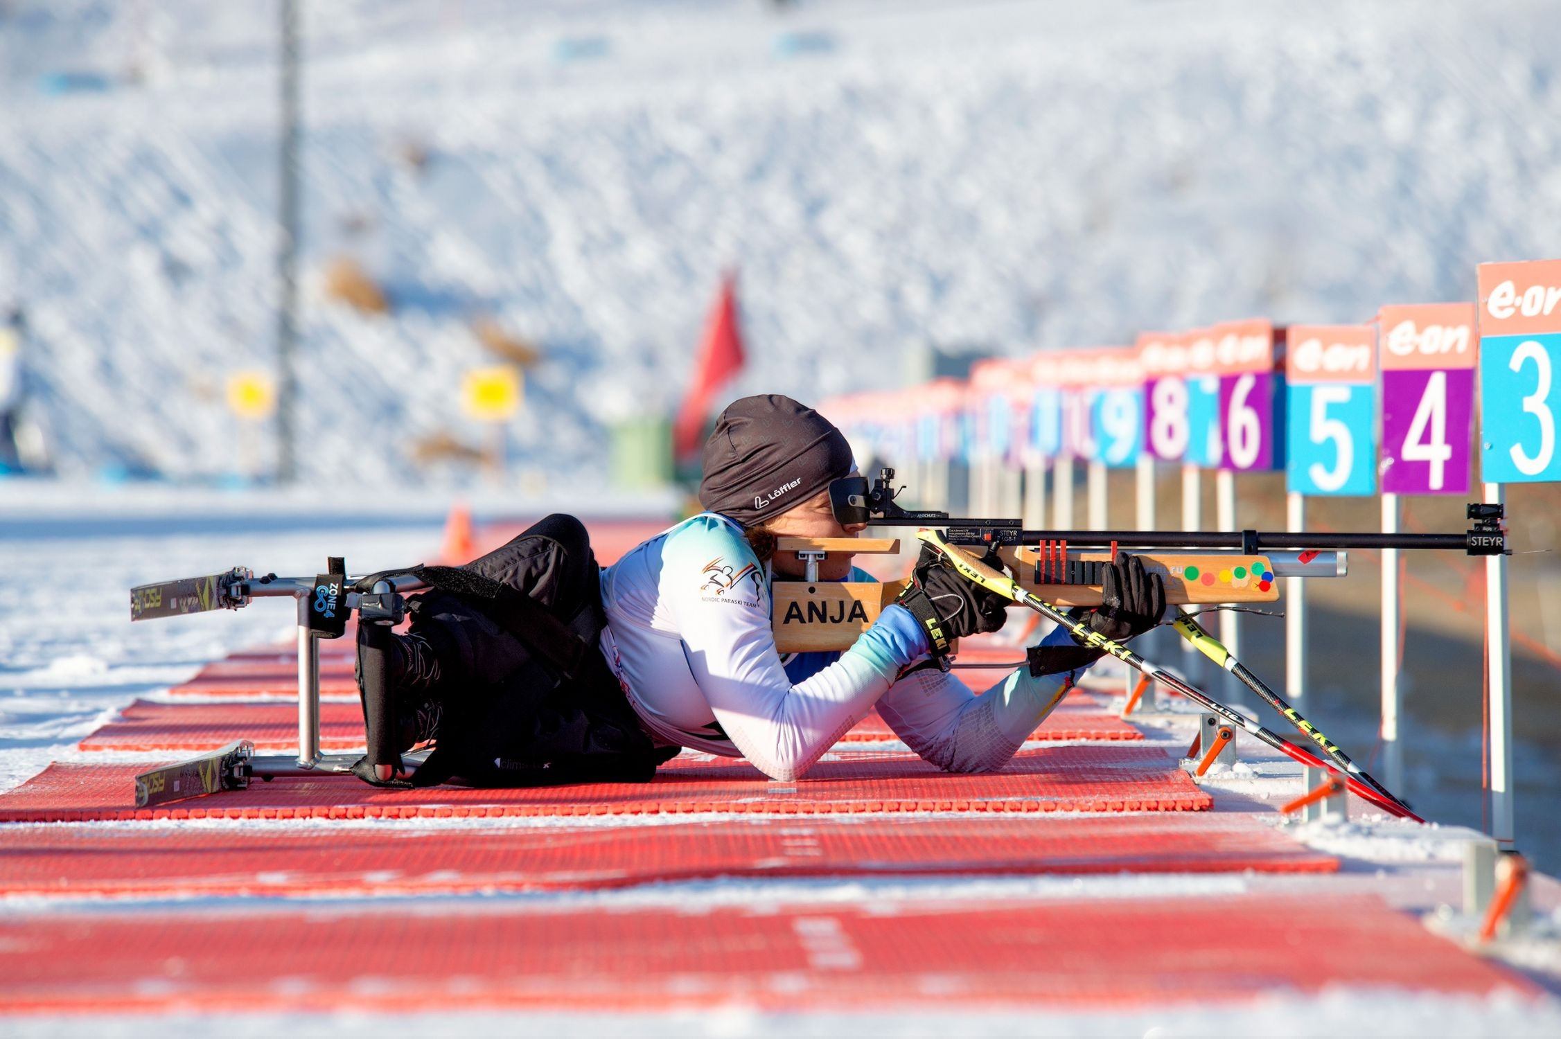
{"type": "Polygon", "coordinates": [[[745,527],[802,504],[851,473],[851,445],[834,423],[790,396],[732,401],[704,441],[699,504],[745,527]]]}

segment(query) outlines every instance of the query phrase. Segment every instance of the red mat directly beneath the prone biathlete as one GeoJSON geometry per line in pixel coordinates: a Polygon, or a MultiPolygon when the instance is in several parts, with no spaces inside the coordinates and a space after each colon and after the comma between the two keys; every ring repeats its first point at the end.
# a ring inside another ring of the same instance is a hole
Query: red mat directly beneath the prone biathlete
{"type": "Polygon", "coordinates": [[[649,783],[529,789],[436,786],[387,791],[353,777],[254,782],[156,808],[134,808],[145,764],[50,764],[0,794],[0,822],[86,819],[359,819],[439,816],[604,816],[731,811],[1197,811],[1213,799],[1157,747],[1060,746],[1021,750],[1001,772],[941,772],[913,754],[845,752],[795,783],[743,761],[677,758],[649,783]]]}

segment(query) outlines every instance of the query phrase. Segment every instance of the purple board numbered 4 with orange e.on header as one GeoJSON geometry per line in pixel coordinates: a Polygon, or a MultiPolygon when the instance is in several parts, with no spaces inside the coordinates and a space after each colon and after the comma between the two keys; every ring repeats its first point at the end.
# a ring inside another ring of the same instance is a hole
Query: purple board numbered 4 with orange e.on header
{"type": "Polygon", "coordinates": [[[1389,306],[1377,323],[1383,493],[1467,495],[1474,304],[1389,306]]]}

